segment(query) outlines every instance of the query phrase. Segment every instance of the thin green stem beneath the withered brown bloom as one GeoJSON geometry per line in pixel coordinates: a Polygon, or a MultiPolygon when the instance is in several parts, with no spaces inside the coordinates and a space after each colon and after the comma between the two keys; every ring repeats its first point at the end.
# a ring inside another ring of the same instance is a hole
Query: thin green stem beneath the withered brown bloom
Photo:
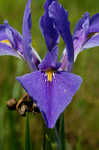
{"type": "Polygon", "coordinates": [[[26,113],[25,150],[31,150],[29,112],[26,113]]]}

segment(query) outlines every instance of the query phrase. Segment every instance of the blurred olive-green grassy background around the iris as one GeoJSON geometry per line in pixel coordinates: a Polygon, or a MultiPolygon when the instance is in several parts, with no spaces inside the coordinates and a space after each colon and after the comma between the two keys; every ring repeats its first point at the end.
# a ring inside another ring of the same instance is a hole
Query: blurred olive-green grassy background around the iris
{"type": "MultiPolygon", "coordinates": [[[[22,33],[22,20],[26,0],[0,0],[0,23],[5,19],[22,33]]],[[[69,12],[71,31],[85,12],[99,12],[99,0],[59,0],[69,12]]],[[[44,0],[32,0],[33,47],[41,58],[46,53],[44,39],[39,29],[39,18],[44,13],[44,0]]],[[[64,48],[60,42],[60,55],[64,48]]],[[[65,137],[69,149],[99,150],[99,47],[83,51],[74,65],[74,73],[83,78],[83,84],[65,110],[65,137]]],[[[24,62],[11,56],[0,57],[0,150],[23,150],[25,118],[10,112],[6,102],[22,96],[22,88],[15,80],[28,72],[24,62]]],[[[32,148],[40,149],[42,143],[41,116],[31,115],[32,148]],[[38,144],[39,143],[39,144],[38,144]]],[[[69,150],[68,149],[68,150],[69,150]]]]}

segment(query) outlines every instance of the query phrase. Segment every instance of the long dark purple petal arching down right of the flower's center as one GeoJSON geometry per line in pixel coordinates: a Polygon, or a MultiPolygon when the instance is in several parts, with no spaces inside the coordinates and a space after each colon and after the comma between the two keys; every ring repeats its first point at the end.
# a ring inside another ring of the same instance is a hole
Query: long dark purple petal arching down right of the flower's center
{"type": "Polygon", "coordinates": [[[66,44],[67,50],[67,70],[71,71],[74,62],[74,49],[72,35],[70,33],[70,23],[67,11],[57,1],[49,6],[49,16],[54,19],[54,23],[66,44]]]}

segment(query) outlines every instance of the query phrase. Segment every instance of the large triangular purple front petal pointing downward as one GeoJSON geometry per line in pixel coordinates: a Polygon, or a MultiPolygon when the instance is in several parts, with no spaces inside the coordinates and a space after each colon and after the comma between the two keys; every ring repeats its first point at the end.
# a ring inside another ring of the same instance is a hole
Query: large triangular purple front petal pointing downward
{"type": "Polygon", "coordinates": [[[17,77],[29,96],[37,103],[48,128],[55,126],[56,120],[69,105],[79,89],[82,79],[68,72],[52,74],[51,82],[47,74],[35,71],[17,77]]]}

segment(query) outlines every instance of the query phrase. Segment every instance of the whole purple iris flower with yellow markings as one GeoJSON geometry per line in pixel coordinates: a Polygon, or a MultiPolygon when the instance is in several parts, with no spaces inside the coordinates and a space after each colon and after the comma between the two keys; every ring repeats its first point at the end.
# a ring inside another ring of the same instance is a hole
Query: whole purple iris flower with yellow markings
{"type": "Polygon", "coordinates": [[[7,21],[0,25],[0,55],[20,57],[28,64],[31,73],[17,77],[17,80],[36,102],[46,126],[53,128],[82,82],[80,76],[71,73],[74,60],[83,49],[99,45],[99,14],[90,18],[86,13],[76,25],[72,37],[68,12],[57,0],[46,0],[40,29],[47,53],[41,60],[32,48],[30,6],[31,0],[28,0],[22,35],[7,21]],[[66,44],[60,62],[57,60],[59,36],[62,36],[66,44]]]}

